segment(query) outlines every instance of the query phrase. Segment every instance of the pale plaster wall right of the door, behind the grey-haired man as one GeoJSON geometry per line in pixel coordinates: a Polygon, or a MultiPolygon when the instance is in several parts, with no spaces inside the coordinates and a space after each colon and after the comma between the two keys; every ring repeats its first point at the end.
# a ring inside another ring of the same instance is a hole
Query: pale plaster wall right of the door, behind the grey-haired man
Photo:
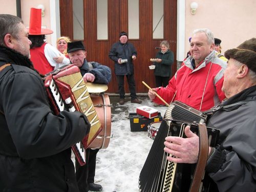
{"type": "Polygon", "coordinates": [[[189,50],[188,38],[198,28],[208,28],[222,40],[222,53],[256,37],[255,7],[255,0],[185,1],[185,53],[189,50]],[[191,2],[198,3],[195,15],[190,13],[191,2]]]}

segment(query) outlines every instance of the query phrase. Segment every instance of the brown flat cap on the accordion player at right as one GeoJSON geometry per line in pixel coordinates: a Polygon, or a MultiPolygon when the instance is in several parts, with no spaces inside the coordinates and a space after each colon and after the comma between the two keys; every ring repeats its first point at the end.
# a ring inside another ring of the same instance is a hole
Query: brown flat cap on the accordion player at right
{"type": "Polygon", "coordinates": [[[256,38],[244,41],[235,49],[229,49],[225,52],[227,59],[235,59],[256,73],[256,38]]]}

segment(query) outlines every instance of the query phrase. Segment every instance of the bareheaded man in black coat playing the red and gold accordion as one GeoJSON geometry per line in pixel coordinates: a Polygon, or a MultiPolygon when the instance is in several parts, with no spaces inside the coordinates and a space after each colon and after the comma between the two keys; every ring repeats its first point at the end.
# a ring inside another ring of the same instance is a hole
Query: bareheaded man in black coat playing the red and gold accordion
{"type": "Polygon", "coordinates": [[[0,191],[78,192],[71,146],[90,131],[86,115],[54,115],[30,61],[22,19],[0,14],[0,191]]]}

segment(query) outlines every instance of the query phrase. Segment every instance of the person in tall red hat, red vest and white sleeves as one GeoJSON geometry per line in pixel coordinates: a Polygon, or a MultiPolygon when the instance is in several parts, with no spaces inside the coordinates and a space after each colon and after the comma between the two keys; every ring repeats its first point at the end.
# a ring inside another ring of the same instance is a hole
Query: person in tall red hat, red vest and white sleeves
{"type": "Polygon", "coordinates": [[[30,60],[40,74],[47,74],[63,65],[68,65],[70,60],[60,53],[55,47],[46,42],[46,35],[52,34],[50,29],[41,28],[41,9],[31,8],[29,23],[30,60]]]}

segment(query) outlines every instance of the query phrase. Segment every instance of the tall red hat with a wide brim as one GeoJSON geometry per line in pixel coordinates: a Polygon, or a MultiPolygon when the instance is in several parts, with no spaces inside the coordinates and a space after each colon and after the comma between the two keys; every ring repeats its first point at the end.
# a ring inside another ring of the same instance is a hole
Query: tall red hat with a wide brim
{"type": "Polygon", "coordinates": [[[41,9],[30,9],[29,35],[48,35],[53,31],[50,29],[41,28],[42,17],[41,9]]]}

